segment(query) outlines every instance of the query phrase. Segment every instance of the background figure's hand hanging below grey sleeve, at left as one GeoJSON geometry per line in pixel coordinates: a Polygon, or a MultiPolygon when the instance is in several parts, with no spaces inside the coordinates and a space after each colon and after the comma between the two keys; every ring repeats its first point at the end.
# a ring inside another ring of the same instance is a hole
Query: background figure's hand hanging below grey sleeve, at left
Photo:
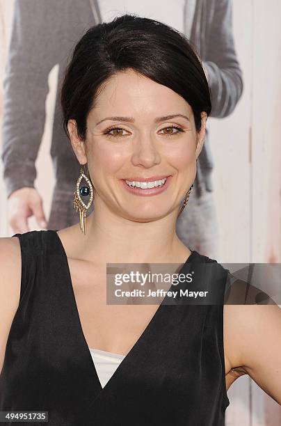
{"type": "Polygon", "coordinates": [[[24,187],[17,189],[8,198],[8,221],[15,233],[29,231],[29,216],[35,216],[40,228],[47,227],[42,198],[35,188],[24,187]]]}

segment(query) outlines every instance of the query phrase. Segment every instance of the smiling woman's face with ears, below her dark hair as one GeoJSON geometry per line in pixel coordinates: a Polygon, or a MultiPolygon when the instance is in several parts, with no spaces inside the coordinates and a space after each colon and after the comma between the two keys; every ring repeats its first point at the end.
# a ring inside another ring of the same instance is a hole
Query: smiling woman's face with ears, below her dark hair
{"type": "Polygon", "coordinates": [[[177,216],[195,179],[206,119],[202,113],[196,132],[188,103],[134,70],[106,81],[88,115],[86,144],[70,138],[79,162],[88,163],[94,202],[135,221],[177,216]]]}

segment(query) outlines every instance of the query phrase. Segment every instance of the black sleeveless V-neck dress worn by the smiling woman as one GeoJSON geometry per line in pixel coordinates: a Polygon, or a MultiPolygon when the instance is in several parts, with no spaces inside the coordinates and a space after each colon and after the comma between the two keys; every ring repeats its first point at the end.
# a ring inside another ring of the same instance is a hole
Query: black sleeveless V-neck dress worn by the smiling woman
{"type": "MultiPolygon", "coordinates": [[[[54,230],[15,236],[22,283],[0,374],[1,411],[48,411],[48,422],[37,423],[48,426],[225,425],[223,303],[162,301],[102,388],[61,239],[54,230]]],[[[180,272],[196,262],[216,260],[193,251],[180,272]]]]}

